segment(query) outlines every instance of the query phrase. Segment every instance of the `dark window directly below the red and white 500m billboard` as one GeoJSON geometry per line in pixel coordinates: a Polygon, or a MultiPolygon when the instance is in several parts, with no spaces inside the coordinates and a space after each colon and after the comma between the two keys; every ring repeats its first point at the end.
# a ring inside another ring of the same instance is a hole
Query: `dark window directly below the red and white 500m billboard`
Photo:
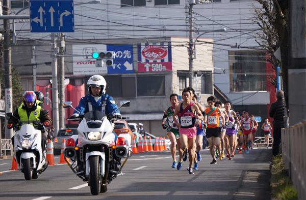
{"type": "Polygon", "coordinates": [[[164,96],[164,76],[139,76],[137,77],[137,96],[164,96]]]}

